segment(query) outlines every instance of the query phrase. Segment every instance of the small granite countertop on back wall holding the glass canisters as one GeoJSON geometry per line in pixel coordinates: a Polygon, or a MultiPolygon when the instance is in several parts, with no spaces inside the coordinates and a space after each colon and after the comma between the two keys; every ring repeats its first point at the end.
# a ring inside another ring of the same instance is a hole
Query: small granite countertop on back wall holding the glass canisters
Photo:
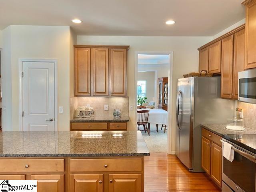
{"type": "Polygon", "coordinates": [[[121,116],[120,118],[114,118],[114,116],[95,116],[88,118],[73,118],[70,122],[127,122],[129,121],[129,116],[121,116]]]}

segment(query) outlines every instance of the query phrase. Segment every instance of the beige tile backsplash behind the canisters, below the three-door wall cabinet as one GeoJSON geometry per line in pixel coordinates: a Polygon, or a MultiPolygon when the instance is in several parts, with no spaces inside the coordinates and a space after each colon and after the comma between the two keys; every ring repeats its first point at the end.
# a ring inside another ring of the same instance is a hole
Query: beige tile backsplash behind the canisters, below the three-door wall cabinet
{"type": "Polygon", "coordinates": [[[88,104],[94,108],[95,116],[113,116],[114,109],[120,109],[122,116],[129,115],[128,97],[71,97],[70,118],[74,118],[74,110],[77,106],[88,104]],[[104,110],[104,105],[108,105],[108,111],[104,110]]]}

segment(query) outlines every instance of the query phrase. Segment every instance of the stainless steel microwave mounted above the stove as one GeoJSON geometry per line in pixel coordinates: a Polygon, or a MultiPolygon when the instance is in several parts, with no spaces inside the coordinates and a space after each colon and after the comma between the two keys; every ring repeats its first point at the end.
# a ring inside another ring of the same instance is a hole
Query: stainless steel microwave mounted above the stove
{"type": "Polygon", "coordinates": [[[238,100],[256,103],[256,69],[238,72],[238,100]]]}

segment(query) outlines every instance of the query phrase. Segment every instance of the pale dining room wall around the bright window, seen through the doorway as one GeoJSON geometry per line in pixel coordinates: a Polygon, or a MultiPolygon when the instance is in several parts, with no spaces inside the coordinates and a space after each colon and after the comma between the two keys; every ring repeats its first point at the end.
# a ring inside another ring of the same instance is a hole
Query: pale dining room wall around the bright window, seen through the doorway
{"type": "Polygon", "coordinates": [[[146,80],[146,97],[147,102],[155,97],[155,72],[138,72],[138,80],[146,80]]]}

